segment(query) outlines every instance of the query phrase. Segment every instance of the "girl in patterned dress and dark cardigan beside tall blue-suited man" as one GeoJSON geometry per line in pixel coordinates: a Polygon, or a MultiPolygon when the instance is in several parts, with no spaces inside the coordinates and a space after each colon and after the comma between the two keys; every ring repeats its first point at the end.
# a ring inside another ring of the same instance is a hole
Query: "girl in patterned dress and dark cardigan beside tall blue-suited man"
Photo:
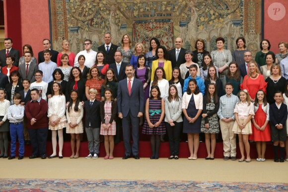
{"type": "Polygon", "coordinates": [[[104,101],[100,103],[101,127],[100,134],[104,135],[106,156],[104,159],[114,159],[114,135],[116,135],[117,102],[114,101],[112,89],[107,88],[104,92],[104,101]],[[109,152],[110,149],[110,152],[109,152]]]}

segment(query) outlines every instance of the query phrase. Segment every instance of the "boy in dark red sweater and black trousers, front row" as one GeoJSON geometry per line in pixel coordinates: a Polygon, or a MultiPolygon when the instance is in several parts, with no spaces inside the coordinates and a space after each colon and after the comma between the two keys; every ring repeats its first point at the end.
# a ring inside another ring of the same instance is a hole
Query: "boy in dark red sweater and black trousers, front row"
{"type": "Polygon", "coordinates": [[[41,156],[46,159],[46,142],[48,134],[48,104],[40,98],[38,89],[31,90],[31,101],[26,103],[25,114],[32,145],[32,155],[29,159],[41,156]]]}

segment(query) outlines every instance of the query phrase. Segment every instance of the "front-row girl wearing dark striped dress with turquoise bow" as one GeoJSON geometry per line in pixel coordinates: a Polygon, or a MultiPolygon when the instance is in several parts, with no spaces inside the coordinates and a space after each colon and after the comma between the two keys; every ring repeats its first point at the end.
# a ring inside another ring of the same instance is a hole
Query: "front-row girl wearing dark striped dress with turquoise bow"
{"type": "Polygon", "coordinates": [[[142,133],[150,134],[152,156],[150,159],[159,158],[160,135],[166,133],[164,124],[165,106],[164,99],[157,85],[153,85],[150,91],[150,98],[146,101],[145,115],[146,120],[142,133]]]}

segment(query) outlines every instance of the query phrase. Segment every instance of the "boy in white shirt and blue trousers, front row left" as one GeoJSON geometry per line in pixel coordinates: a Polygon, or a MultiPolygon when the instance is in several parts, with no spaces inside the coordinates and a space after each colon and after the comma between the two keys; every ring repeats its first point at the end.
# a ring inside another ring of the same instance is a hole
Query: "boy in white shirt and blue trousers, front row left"
{"type": "Polygon", "coordinates": [[[19,142],[19,156],[18,159],[24,158],[24,134],[23,134],[23,117],[24,117],[24,106],[20,105],[21,95],[15,93],[13,96],[14,105],[8,108],[8,117],[10,121],[10,137],[11,137],[11,152],[10,159],[15,159],[16,156],[16,140],[19,142]]]}

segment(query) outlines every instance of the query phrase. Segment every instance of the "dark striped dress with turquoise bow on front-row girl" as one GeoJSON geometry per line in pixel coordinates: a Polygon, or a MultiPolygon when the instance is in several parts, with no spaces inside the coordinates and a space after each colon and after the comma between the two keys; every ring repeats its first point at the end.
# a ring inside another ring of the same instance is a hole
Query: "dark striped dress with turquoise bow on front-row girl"
{"type": "MultiPolygon", "coordinates": [[[[161,116],[161,104],[162,100],[149,99],[149,119],[152,124],[159,121],[161,116]]],[[[166,127],[164,121],[160,123],[157,128],[149,128],[147,120],[145,120],[142,133],[144,134],[165,134],[166,127]]]]}

